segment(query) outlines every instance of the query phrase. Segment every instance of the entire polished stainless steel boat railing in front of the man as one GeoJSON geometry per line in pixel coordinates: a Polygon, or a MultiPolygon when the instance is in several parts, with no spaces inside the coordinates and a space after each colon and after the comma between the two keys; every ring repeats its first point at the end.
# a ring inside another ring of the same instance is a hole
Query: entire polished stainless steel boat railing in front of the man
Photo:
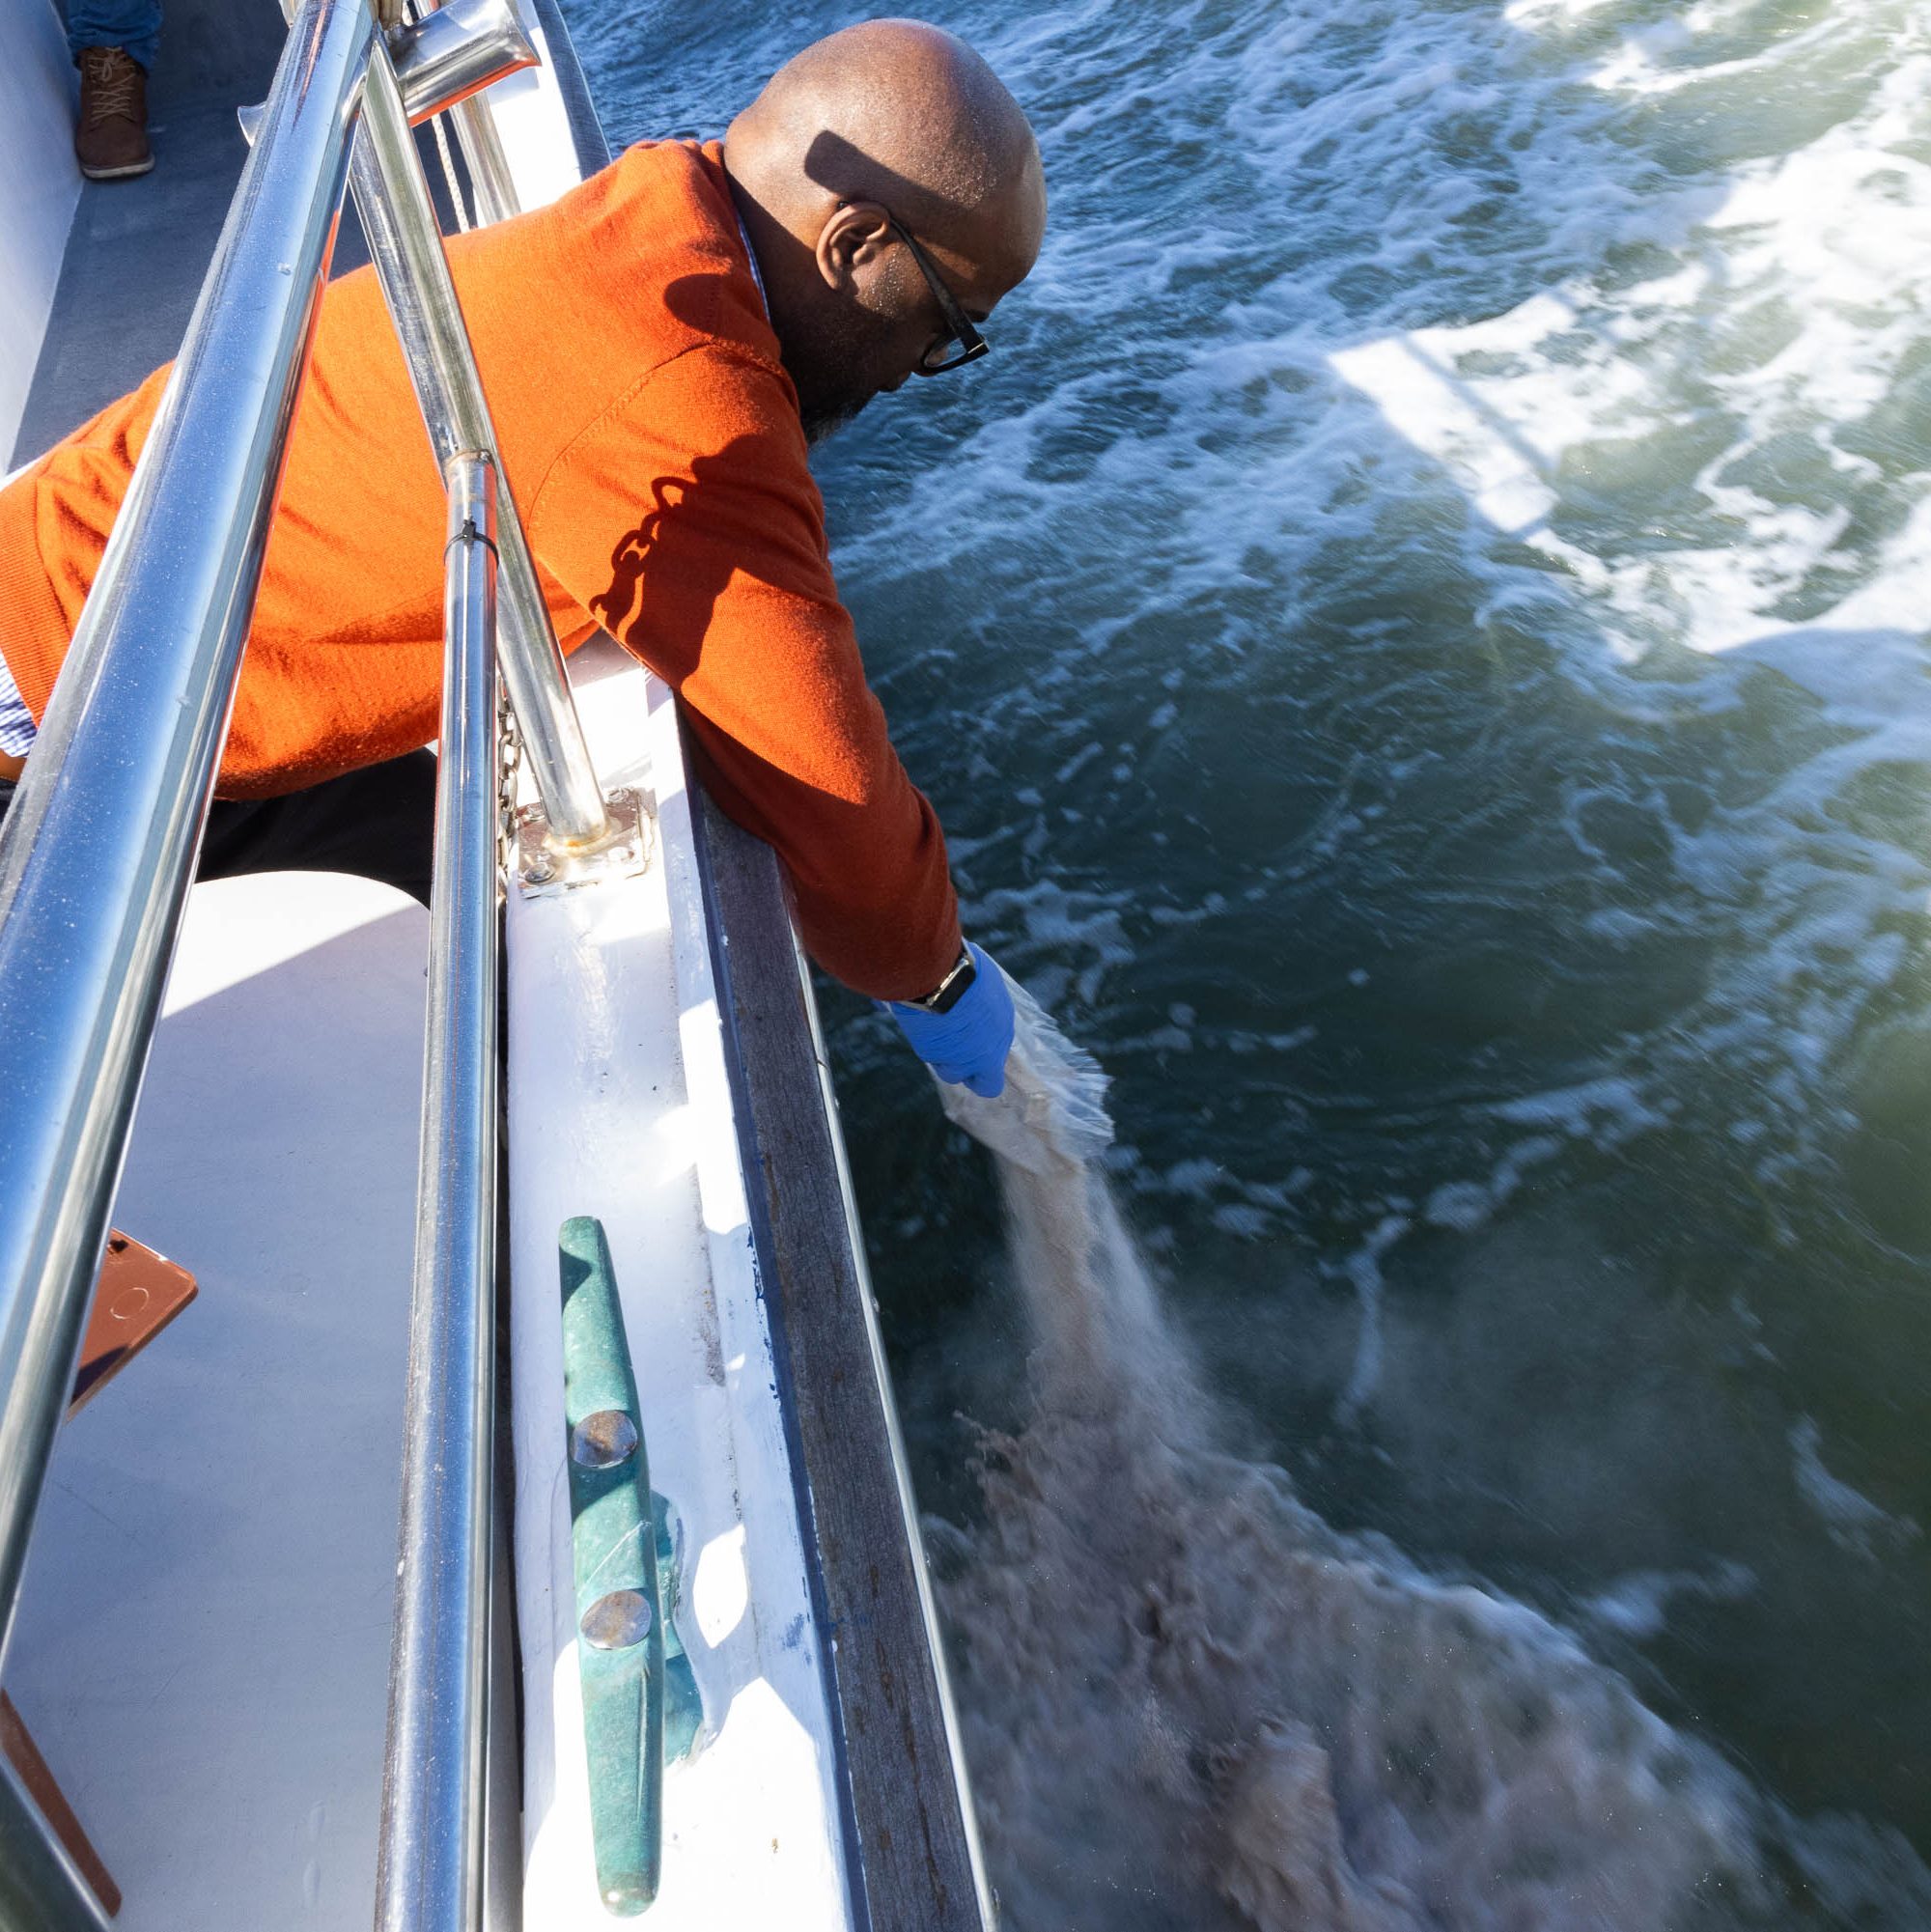
{"type": "MultiPolygon", "coordinates": [[[[444,27],[417,29],[417,68],[425,39],[440,43],[431,52],[454,75],[452,91],[481,85],[481,56],[463,54],[444,27]]],[[[527,64],[529,48],[496,52],[510,68],[527,64]]],[[[365,0],[305,0],[292,17],[174,377],[0,827],[10,1080],[0,1111],[0,1648],[195,871],[351,176],[452,516],[378,1922],[463,1932],[479,1918],[483,1851],[498,668],[560,854],[614,840],[521,524],[496,489],[494,429],[390,50],[365,0]]],[[[494,193],[500,201],[500,184],[494,193]]],[[[66,1932],[100,1922],[71,1861],[0,1770],[0,1924],[66,1932]]]]}

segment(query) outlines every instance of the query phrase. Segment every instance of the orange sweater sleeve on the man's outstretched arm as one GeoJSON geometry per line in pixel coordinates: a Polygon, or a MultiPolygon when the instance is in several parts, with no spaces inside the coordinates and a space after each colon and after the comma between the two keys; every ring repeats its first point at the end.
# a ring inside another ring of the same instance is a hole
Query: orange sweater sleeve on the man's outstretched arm
{"type": "Polygon", "coordinates": [[[782,373],[720,346],[662,363],[552,464],[529,529],[678,692],[703,781],[784,862],[811,956],[881,999],[931,991],[960,947],[944,837],[865,682],[782,373]]]}

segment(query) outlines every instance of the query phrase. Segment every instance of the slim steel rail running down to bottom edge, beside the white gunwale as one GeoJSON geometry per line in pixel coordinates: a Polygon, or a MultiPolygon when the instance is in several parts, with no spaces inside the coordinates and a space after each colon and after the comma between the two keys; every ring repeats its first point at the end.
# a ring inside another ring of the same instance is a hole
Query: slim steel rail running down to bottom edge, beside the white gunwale
{"type": "Polygon", "coordinates": [[[483,1911],[490,1455],[496,1389],[496,477],[444,464],[436,873],[423,1041],[378,1932],[483,1911]]]}

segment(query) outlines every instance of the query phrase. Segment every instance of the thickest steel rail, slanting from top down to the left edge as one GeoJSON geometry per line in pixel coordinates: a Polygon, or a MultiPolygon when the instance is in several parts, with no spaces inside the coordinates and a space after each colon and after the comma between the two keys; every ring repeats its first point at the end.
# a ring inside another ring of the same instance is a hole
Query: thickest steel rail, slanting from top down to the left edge
{"type": "Polygon", "coordinates": [[[0,829],[0,1636],[234,705],[375,23],[307,0],[0,829]]]}

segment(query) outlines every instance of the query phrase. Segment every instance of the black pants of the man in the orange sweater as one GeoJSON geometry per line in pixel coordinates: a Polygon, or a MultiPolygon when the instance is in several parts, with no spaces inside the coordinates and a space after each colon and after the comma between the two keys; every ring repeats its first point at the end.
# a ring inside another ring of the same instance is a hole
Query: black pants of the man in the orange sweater
{"type": "MultiPolygon", "coordinates": [[[[0,779],[0,819],[14,786],[0,779]]],[[[197,879],[249,871],[353,871],[429,904],[436,837],[436,755],[409,752],[286,798],[218,798],[197,879]]]]}

